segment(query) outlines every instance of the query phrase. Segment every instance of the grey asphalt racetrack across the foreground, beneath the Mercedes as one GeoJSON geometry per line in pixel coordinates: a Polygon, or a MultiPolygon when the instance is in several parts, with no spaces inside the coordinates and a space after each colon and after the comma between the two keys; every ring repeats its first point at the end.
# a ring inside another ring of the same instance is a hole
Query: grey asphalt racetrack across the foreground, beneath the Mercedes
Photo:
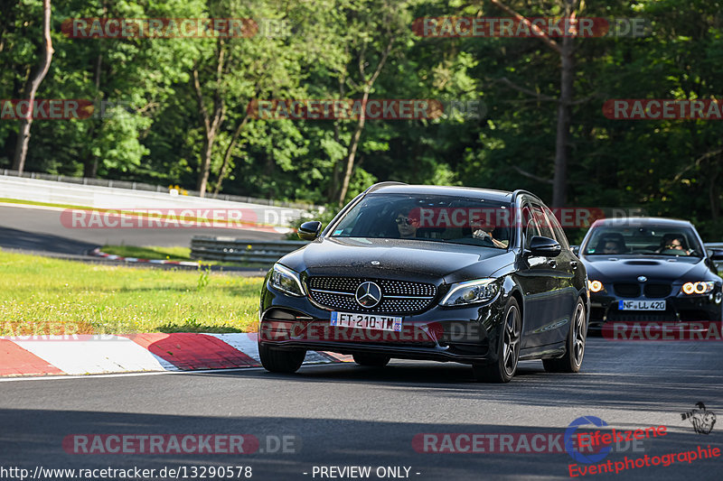
{"type": "MultiPolygon", "coordinates": [[[[616,430],[667,427],[664,436],[611,452],[602,463],[720,447],[719,424],[697,434],[681,419],[697,402],[723,413],[720,349],[717,342],[589,338],[581,373],[549,375],[540,361],[522,362],[510,384],[474,383],[464,365],[394,360],[383,369],[303,366],[296,375],[246,369],[2,381],[0,466],[31,473],[35,467],[185,467],[189,478],[193,467],[243,466],[251,467],[252,479],[286,480],[354,479],[339,471],[321,476],[321,468],[359,466],[371,467],[369,479],[394,478],[390,473],[418,480],[564,479],[571,464],[582,466],[565,452],[427,453],[418,452],[413,439],[422,433],[554,436],[578,417],[596,416],[616,430]],[[189,433],[251,434],[259,446],[232,456],[69,454],[62,446],[73,434],[189,433]],[[293,442],[286,453],[277,442],[284,436],[294,437],[287,438],[293,442]],[[377,476],[379,467],[384,477],[377,476]]],[[[721,458],[676,459],[668,467],[584,477],[720,479],[722,464],[721,458]]]]}

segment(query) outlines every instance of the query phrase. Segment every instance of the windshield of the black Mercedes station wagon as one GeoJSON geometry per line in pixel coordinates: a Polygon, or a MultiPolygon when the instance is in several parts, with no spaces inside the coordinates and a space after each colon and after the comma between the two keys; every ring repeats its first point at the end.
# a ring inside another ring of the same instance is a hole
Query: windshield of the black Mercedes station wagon
{"type": "Polygon", "coordinates": [[[334,226],[332,237],[376,237],[480,245],[510,245],[510,208],[484,199],[370,194],[334,226]]]}

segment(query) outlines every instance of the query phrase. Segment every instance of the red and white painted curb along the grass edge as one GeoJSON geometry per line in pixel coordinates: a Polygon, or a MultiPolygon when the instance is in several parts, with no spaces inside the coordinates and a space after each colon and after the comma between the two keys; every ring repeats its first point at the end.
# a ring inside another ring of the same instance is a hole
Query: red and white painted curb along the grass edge
{"type": "MultiPolygon", "coordinates": [[[[305,364],[352,356],[308,351],[305,364]]],[[[0,337],[0,376],[93,375],[259,367],[256,333],[0,337]]]]}

